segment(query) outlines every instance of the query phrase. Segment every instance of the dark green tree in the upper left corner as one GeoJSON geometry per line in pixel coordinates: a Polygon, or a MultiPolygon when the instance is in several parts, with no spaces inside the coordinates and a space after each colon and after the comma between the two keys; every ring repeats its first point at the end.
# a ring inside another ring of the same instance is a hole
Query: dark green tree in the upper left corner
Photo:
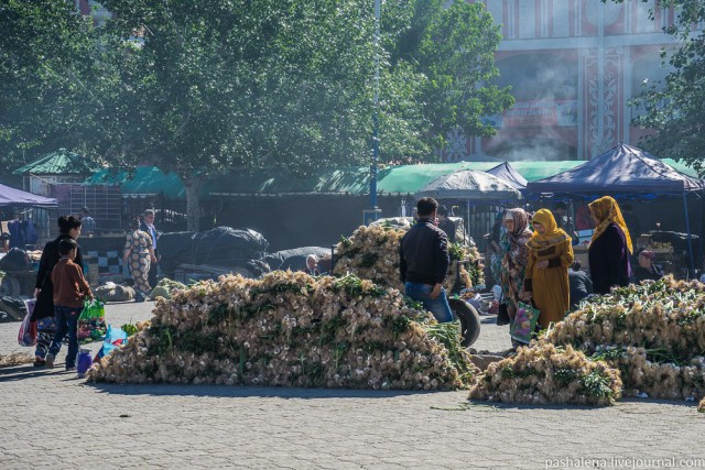
{"type": "Polygon", "coordinates": [[[84,146],[97,111],[85,84],[110,62],[93,20],[70,1],[4,0],[0,31],[0,167],[84,146]]]}

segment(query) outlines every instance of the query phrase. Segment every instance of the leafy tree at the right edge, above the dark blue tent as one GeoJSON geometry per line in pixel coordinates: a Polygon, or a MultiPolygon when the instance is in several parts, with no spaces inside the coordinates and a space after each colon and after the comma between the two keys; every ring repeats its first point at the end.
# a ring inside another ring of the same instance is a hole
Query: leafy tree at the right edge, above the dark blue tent
{"type": "Polygon", "coordinates": [[[663,83],[651,85],[632,100],[643,112],[634,122],[655,131],[644,139],[646,147],[659,156],[683,161],[704,176],[705,33],[694,26],[705,21],[705,3],[660,0],[658,8],[676,9],[675,23],[664,32],[674,36],[680,47],[670,56],[662,52],[662,58],[673,67],[663,83]]]}

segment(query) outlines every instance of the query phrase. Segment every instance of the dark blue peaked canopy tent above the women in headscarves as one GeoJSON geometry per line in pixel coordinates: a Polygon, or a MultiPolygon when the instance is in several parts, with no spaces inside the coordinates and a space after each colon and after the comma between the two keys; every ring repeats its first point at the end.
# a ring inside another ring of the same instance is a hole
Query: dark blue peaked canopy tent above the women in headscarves
{"type": "Polygon", "coordinates": [[[660,195],[682,197],[691,269],[695,266],[687,194],[705,192],[705,183],[679,172],[648,152],[620,143],[573,170],[530,182],[527,185],[527,192],[586,198],[603,194],[609,194],[616,198],[652,198],[660,195]]]}

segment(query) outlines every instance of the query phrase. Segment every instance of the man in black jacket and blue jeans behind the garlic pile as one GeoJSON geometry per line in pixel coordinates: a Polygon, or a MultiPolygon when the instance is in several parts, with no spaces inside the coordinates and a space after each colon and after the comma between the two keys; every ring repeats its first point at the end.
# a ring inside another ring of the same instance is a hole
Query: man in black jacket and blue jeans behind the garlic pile
{"type": "Polygon", "coordinates": [[[438,323],[453,321],[443,288],[448,272],[448,238],[436,227],[438,203],[424,197],[416,204],[419,220],[401,239],[399,271],[406,295],[421,302],[438,323]]]}

